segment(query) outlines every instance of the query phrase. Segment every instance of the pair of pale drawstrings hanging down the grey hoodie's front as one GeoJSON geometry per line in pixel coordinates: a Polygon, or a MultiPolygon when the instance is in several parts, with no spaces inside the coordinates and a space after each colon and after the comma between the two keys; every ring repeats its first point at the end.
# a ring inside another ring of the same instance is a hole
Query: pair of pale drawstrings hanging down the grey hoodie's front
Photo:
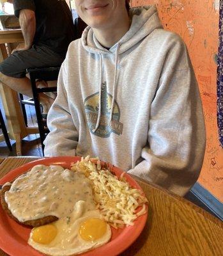
{"type": "MultiPolygon", "coordinates": [[[[117,84],[116,84],[116,80],[117,80],[117,68],[118,68],[118,52],[119,52],[119,48],[120,48],[120,44],[117,45],[116,48],[116,59],[115,59],[115,63],[114,63],[114,81],[113,81],[113,92],[112,92],[112,104],[111,104],[111,111],[110,111],[110,117],[109,117],[109,124],[108,126],[111,124],[111,120],[112,120],[112,115],[113,115],[113,110],[114,110],[114,100],[115,100],[115,95],[116,95],[116,88],[117,88],[117,84]]],[[[102,115],[102,54],[100,54],[100,79],[99,79],[99,109],[98,109],[98,117],[96,120],[96,126],[95,129],[93,129],[93,132],[96,132],[96,130],[98,129],[99,125],[100,125],[100,118],[102,115]]]]}

